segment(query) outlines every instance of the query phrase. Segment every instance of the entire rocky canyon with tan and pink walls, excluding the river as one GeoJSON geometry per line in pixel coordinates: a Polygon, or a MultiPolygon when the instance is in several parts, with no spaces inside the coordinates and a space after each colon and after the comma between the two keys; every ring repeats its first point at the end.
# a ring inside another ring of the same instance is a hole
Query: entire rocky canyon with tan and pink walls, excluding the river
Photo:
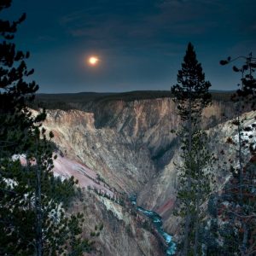
{"type": "MultiPolygon", "coordinates": [[[[40,101],[47,102],[46,96],[40,101]]],[[[165,255],[164,242],[148,219],[135,212],[129,196],[136,195],[138,206],[157,212],[166,232],[177,235],[172,212],[178,189],[175,164],[181,159],[172,131],[178,131],[181,121],[172,98],[70,99],[68,108],[49,107],[44,127],[55,135],[55,175],[73,175],[83,190],[83,200],[75,202],[73,211],[87,217],[84,230],[104,226],[96,238],[96,255],[165,255]]],[[[213,170],[217,187],[229,177],[224,160],[235,154],[225,143],[236,134],[230,125],[233,116],[233,103],[219,99],[203,112],[202,127],[219,161],[213,170]],[[223,150],[228,154],[220,157],[223,150]]]]}

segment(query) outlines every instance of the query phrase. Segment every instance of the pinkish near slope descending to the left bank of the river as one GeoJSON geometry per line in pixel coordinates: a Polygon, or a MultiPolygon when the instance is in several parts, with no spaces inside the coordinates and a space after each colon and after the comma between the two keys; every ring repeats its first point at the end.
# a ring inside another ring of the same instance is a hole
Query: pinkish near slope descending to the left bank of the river
{"type": "MultiPolygon", "coordinates": [[[[20,160],[26,163],[22,156],[20,160]]],[[[165,242],[160,240],[153,225],[96,172],[63,154],[58,154],[54,160],[53,172],[55,176],[73,176],[79,181],[81,193],[69,211],[84,213],[84,236],[95,242],[90,255],[164,255],[165,242]]]]}

